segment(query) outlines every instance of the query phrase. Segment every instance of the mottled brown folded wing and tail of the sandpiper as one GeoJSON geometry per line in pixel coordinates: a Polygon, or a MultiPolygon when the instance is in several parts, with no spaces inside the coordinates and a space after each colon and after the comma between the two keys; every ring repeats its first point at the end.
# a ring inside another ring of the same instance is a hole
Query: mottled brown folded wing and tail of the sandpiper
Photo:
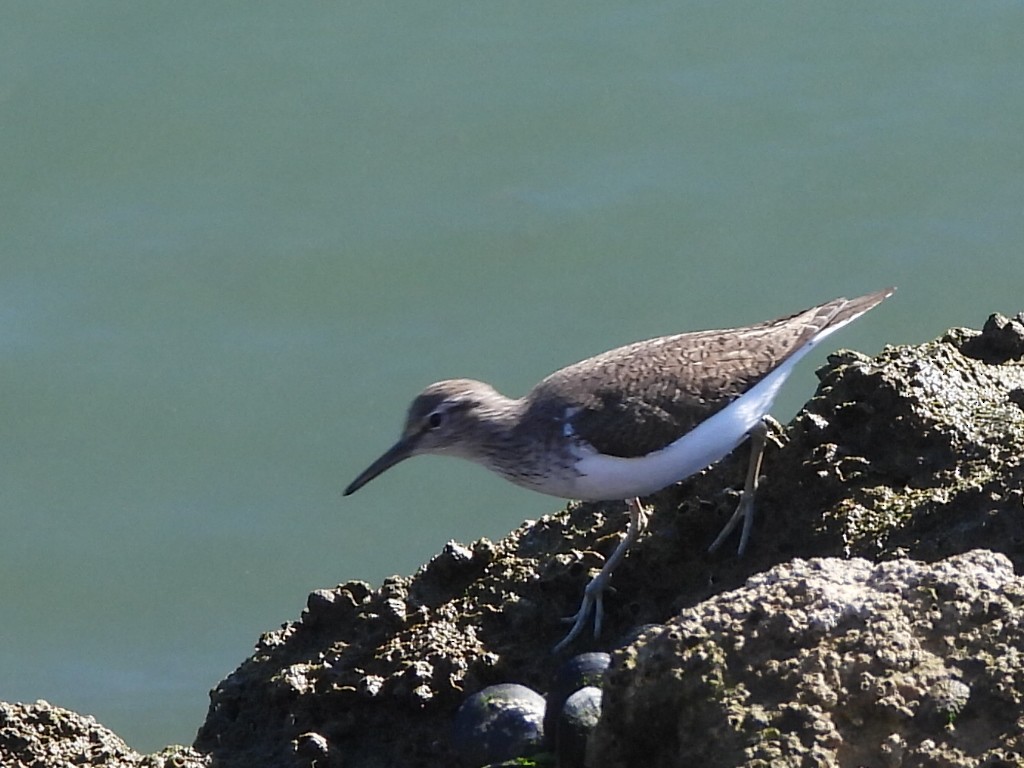
{"type": "Polygon", "coordinates": [[[746,328],[612,349],[546,378],[528,395],[527,408],[543,408],[553,427],[571,428],[603,454],[643,456],[725,408],[822,331],[866,312],[891,293],[835,299],[746,328]]]}

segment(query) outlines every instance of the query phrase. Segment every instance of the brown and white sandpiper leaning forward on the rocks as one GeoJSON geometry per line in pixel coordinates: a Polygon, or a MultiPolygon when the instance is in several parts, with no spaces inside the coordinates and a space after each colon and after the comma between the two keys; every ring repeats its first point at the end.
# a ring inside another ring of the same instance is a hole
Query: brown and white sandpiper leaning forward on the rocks
{"type": "Polygon", "coordinates": [[[684,480],[751,438],[739,505],[711,545],[737,523],[750,539],[768,415],[797,362],[829,334],[892,295],[894,288],[838,298],[744,328],[640,341],[548,376],[524,397],[471,379],[431,384],[413,400],[399,440],[345,488],[345,496],[420,454],[458,456],[542,494],[582,501],[627,500],[626,537],[584,590],[568,645],[594,611],[611,572],[644,525],[639,497],[684,480]]]}

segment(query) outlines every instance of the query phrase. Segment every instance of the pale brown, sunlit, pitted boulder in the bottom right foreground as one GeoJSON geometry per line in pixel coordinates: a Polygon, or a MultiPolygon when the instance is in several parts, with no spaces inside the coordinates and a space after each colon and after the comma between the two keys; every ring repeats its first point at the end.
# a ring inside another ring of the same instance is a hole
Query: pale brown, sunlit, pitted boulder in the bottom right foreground
{"type": "Polygon", "coordinates": [[[1002,555],[796,560],[615,654],[590,764],[1019,766],[1021,649],[1002,555]]]}

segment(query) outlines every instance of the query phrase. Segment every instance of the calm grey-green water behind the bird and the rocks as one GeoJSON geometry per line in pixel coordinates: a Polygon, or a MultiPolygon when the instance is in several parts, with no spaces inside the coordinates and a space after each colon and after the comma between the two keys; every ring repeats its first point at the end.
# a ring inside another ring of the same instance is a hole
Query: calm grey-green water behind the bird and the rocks
{"type": "Polygon", "coordinates": [[[0,698],[141,750],[310,590],[559,506],[443,459],[343,500],[430,381],[890,284],[835,345],[1024,309],[1020,3],[0,22],[0,698]]]}

